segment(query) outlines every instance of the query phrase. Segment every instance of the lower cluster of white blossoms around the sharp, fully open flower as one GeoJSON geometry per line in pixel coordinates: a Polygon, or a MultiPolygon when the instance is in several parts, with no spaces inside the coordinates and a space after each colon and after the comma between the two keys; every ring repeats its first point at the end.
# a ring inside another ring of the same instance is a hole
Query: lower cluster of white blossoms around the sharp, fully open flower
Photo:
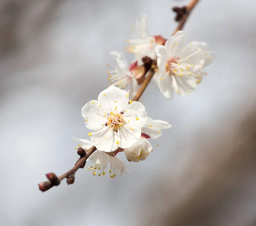
{"type": "Polygon", "coordinates": [[[145,107],[138,101],[129,100],[129,93],[115,86],[103,90],[98,100],[89,101],[82,107],[85,125],[92,130],[90,141],[77,139],[82,148],[93,145],[97,150],[88,158],[93,175],[105,175],[110,163],[110,177],[127,172],[124,162],[116,155],[124,152],[128,161],[145,160],[152,151],[148,138],[157,139],[161,130],[170,128],[168,122],[153,120],[147,116],[145,107]]]}

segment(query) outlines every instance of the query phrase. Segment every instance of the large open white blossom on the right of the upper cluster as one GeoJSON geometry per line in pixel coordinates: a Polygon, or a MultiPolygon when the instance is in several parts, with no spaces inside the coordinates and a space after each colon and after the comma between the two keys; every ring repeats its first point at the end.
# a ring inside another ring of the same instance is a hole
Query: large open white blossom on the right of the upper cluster
{"type": "Polygon", "coordinates": [[[167,99],[172,99],[174,92],[186,96],[195,91],[205,72],[215,56],[209,50],[207,43],[187,43],[187,35],[183,31],[177,32],[169,38],[165,46],[156,47],[158,87],[167,99]]]}

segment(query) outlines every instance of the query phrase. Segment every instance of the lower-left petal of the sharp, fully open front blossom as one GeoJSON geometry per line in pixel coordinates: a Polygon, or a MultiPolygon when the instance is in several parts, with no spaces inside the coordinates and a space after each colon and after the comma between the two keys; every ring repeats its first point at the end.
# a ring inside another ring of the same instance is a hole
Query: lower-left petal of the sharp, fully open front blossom
{"type": "Polygon", "coordinates": [[[110,127],[105,126],[102,130],[93,133],[90,136],[92,144],[99,150],[105,152],[116,151],[118,144],[116,144],[116,132],[110,127]]]}

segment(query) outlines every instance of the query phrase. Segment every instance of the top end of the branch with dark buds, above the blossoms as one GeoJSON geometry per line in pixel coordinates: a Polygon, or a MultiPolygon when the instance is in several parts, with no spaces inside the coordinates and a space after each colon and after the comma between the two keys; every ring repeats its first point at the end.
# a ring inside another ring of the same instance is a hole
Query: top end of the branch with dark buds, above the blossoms
{"type": "Polygon", "coordinates": [[[179,8],[179,7],[172,8],[172,10],[177,13],[175,20],[179,19],[178,21],[180,21],[177,28],[173,32],[173,35],[175,35],[178,31],[183,29],[183,26],[185,25],[186,20],[189,17],[189,14],[194,9],[198,1],[199,0],[191,0],[186,6],[183,6],[182,8],[179,8]]]}

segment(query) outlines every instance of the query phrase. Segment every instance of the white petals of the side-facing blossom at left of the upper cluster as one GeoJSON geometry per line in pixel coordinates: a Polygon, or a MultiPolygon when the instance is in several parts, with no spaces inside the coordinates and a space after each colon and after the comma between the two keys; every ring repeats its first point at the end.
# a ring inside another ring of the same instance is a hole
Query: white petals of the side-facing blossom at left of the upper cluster
{"type": "Polygon", "coordinates": [[[117,66],[111,65],[114,67],[114,70],[108,70],[108,74],[110,74],[108,76],[108,81],[110,81],[113,86],[126,90],[128,93],[132,93],[132,96],[134,96],[139,89],[139,86],[129,70],[130,65],[125,59],[125,56],[122,52],[115,51],[112,51],[110,55],[116,60],[117,66]]]}

